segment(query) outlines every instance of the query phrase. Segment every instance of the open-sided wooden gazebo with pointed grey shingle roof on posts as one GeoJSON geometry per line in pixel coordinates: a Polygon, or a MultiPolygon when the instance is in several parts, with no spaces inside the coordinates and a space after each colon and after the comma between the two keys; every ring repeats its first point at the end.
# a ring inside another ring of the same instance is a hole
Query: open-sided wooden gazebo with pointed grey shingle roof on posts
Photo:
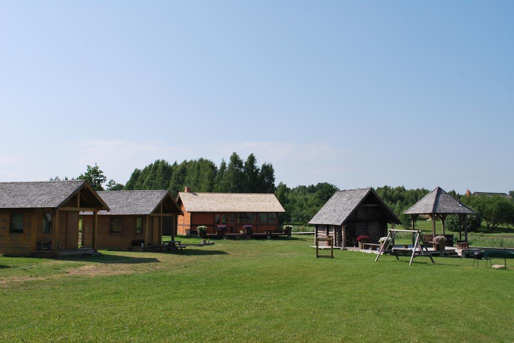
{"type": "MultiPolygon", "coordinates": [[[[403,212],[412,216],[412,230],[414,230],[414,223],[420,214],[428,215],[432,219],[432,233],[435,236],[435,221],[437,218],[441,219],[443,227],[443,235],[445,234],[445,219],[449,214],[456,214],[464,219],[464,236],[465,241],[468,241],[468,221],[467,215],[474,214],[474,212],[467,206],[463,205],[460,201],[455,200],[444,189],[437,186],[432,192],[421,198],[410,209],[403,212]]],[[[462,238],[462,237],[461,237],[462,238]]]]}

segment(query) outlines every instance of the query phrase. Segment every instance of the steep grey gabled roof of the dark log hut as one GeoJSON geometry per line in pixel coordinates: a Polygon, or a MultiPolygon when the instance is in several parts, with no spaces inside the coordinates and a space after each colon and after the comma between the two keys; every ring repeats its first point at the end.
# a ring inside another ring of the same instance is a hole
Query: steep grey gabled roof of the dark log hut
{"type": "Polygon", "coordinates": [[[310,219],[309,224],[343,225],[367,197],[374,197],[375,203],[380,205],[396,224],[400,224],[400,220],[372,188],[347,189],[335,192],[318,213],[310,219]]]}

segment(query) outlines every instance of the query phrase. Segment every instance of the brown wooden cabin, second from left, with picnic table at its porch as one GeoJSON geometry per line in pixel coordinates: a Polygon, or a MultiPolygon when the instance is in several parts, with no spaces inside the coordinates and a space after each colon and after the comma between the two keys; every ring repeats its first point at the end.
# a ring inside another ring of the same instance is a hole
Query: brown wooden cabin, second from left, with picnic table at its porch
{"type": "MultiPolygon", "coordinates": [[[[182,211],[169,191],[105,191],[98,195],[111,209],[98,212],[98,249],[153,250],[162,244],[162,235],[174,236],[177,215],[182,211]]],[[[93,215],[81,215],[82,241],[89,247],[93,215]]]]}

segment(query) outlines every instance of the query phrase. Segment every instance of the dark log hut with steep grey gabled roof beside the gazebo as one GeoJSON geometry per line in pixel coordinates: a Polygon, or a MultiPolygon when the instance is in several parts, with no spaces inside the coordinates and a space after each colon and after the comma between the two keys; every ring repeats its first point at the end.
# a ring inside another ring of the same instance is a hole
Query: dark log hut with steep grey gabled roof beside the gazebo
{"type": "Polygon", "coordinates": [[[387,235],[388,223],[400,224],[398,217],[372,188],[338,191],[309,221],[316,235],[334,237],[337,247],[357,246],[357,237],[366,235],[378,243],[387,235]]]}

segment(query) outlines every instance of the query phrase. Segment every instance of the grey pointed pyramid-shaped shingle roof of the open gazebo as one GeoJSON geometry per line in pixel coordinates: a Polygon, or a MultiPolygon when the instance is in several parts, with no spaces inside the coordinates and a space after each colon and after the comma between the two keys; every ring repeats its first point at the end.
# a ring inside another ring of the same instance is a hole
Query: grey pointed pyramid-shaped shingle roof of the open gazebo
{"type": "Polygon", "coordinates": [[[474,212],[463,204],[460,204],[444,189],[437,186],[432,192],[421,198],[405,214],[473,214],[474,212]]]}

